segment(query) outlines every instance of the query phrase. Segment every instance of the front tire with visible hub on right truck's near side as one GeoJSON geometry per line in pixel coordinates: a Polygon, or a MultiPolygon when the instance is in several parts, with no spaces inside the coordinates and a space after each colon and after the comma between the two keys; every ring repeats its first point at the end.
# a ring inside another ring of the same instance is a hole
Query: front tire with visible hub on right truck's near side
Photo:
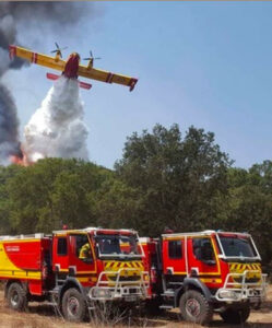
{"type": "Polygon", "coordinates": [[[209,325],[213,317],[212,305],[198,291],[189,290],[179,300],[179,309],[186,321],[209,325]]]}

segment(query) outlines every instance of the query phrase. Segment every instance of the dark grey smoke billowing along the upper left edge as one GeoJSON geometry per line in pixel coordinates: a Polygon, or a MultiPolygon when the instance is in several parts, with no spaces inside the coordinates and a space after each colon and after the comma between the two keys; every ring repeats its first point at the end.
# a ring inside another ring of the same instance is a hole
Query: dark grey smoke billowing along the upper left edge
{"type": "Polygon", "coordinates": [[[8,164],[9,156],[20,152],[16,106],[2,82],[8,70],[28,65],[20,58],[9,60],[9,45],[24,46],[17,39],[17,23],[46,22],[52,28],[69,28],[83,14],[84,8],[76,2],[0,2],[0,164],[8,164]]]}

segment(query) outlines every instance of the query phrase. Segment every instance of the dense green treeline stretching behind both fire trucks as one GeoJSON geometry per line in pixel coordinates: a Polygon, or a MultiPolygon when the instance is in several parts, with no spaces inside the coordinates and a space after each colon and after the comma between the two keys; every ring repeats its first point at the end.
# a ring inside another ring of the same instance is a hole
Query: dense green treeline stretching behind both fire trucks
{"type": "Polygon", "coordinates": [[[133,133],[110,171],[79,160],[0,166],[0,234],[102,225],[157,236],[205,229],[247,231],[272,261],[272,162],[249,169],[190,127],[133,133]]]}

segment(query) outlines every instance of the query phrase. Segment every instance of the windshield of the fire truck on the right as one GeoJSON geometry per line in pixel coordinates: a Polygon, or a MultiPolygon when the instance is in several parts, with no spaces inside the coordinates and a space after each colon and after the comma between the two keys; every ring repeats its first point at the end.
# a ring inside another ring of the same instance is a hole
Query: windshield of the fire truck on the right
{"type": "Polygon", "coordinates": [[[248,237],[220,236],[226,257],[256,258],[258,255],[248,237]]]}

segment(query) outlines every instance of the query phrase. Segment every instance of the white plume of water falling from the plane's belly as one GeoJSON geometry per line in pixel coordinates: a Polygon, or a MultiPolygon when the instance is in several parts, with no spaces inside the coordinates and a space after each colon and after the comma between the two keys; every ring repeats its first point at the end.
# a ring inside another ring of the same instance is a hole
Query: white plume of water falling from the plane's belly
{"type": "Polygon", "coordinates": [[[25,126],[27,163],[44,157],[87,160],[87,128],[76,80],[61,75],[25,126]]]}

